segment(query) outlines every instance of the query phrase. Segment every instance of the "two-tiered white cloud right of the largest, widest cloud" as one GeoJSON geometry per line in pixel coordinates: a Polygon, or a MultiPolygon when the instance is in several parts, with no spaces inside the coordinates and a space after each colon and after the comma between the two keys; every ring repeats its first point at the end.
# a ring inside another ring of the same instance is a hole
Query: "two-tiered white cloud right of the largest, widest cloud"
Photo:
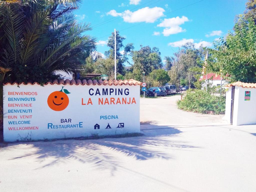
{"type": "Polygon", "coordinates": [[[173,17],[169,19],[164,19],[161,23],[157,25],[157,27],[165,27],[162,33],[164,34],[164,36],[169,36],[172,34],[185,32],[186,29],[182,29],[180,25],[184,24],[187,21],[189,21],[189,19],[185,16],[173,17]]]}

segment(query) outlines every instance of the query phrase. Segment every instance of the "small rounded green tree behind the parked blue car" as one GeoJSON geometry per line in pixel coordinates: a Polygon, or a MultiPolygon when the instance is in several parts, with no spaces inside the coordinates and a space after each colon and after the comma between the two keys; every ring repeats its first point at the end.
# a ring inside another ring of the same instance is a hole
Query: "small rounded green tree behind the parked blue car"
{"type": "Polygon", "coordinates": [[[154,69],[149,74],[149,77],[151,80],[157,82],[158,87],[163,86],[165,83],[167,83],[170,80],[170,77],[168,76],[168,72],[165,71],[164,69],[154,69]]]}

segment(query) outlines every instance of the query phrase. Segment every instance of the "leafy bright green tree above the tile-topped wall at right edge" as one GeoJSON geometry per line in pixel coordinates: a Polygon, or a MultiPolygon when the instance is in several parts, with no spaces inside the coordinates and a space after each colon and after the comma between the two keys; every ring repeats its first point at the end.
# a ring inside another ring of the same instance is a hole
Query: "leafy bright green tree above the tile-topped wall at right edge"
{"type": "MultiPolygon", "coordinates": [[[[244,18],[241,17],[241,20],[244,18]]],[[[218,74],[229,74],[231,81],[256,82],[256,26],[254,20],[234,26],[234,33],[228,33],[209,49],[211,62],[208,68],[218,74]]]]}

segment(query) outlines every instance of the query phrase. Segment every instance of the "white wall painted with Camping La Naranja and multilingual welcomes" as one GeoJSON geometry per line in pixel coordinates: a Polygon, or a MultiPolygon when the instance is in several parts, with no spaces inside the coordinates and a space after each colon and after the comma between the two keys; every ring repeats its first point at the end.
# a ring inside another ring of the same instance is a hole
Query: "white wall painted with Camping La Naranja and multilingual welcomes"
{"type": "Polygon", "coordinates": [[[135,132],[139,85],[4,86],[4,141],[135,132]]]}

